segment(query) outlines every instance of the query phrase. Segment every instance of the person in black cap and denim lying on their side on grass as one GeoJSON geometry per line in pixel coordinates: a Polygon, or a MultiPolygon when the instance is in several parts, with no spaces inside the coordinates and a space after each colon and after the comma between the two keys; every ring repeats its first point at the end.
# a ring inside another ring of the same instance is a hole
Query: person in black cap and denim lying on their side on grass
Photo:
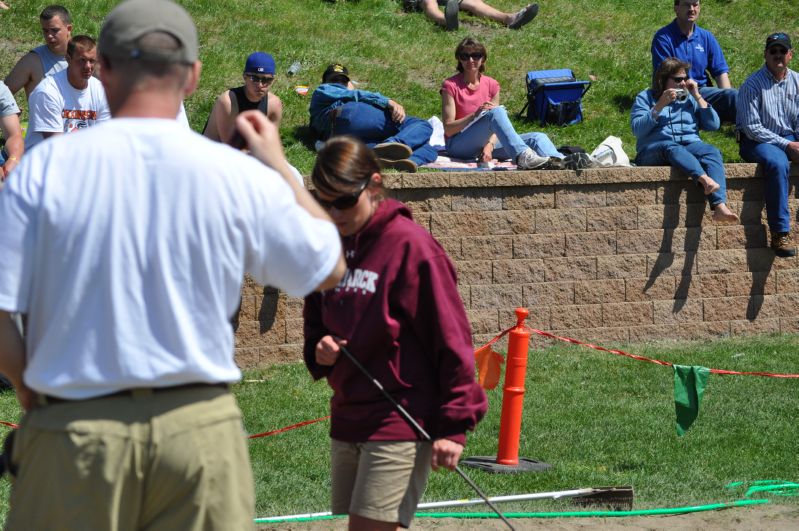
{"type": "Polygon", "coordinates": [[[320,140],[352,135],[375,151],[384,168],[413,173],[438,156],[429,144],[433,134],[429,123],[406,116],[402,105],[379,92],[355,90],[344,65],[325,69],[308,110],[320,140]]]}

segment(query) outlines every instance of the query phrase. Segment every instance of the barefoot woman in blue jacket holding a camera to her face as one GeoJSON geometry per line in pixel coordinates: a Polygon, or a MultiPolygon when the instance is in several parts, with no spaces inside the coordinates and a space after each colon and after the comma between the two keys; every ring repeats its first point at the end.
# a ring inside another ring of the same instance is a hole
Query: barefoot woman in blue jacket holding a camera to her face
{"type": "Polygon", "coordinates": [[[636,163],[670,165],[681,169],[702,187],[713,211],[713,221],[736,223],[727,207],[724,162],[717,148],[702,142],[699,130],[715,131],[719,115],[688,77],[691,65],[669,57],[655,72],[652,88],[635,98],[630,125],[638,140],[636,163]]]}

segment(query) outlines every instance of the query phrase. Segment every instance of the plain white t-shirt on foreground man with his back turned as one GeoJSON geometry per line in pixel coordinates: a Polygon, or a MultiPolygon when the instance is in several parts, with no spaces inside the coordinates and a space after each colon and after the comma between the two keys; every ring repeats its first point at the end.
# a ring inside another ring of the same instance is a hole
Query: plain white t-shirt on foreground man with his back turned
{"type": "Polygon", "coordinates": [[[273,170],[176,120],[42,143],[0,191],[0,227],[0,309],[29,316],[25,383],[69,399],[236,381],[244,273],[303,296],[341,252],[273,170]]]}

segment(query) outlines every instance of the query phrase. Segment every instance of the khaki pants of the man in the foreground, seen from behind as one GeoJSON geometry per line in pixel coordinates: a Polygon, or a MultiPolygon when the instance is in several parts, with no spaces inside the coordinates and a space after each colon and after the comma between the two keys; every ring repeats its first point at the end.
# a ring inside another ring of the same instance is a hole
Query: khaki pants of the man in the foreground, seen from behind
{"type": "Polygon", "coordinates": [[[253,529],[241,413],[226,389],[51,403],[16,434],[6,529],[253,529]]]}

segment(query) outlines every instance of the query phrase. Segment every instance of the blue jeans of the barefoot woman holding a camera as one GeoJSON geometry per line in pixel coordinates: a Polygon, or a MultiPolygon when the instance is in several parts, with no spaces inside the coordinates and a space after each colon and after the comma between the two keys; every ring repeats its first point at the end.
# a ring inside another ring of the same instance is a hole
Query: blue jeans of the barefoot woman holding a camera
{"type": "Polygon", "coordinates": [[[711,208],[727,202],[727,177],[724,161],[715,146],[704,142],[678,144],[657,142],[638,153],[635,162],[639,166],[674,166],[687,173],[694,182],[707,175],[719,184],[719,189],[707,196],[711,208]]]}

